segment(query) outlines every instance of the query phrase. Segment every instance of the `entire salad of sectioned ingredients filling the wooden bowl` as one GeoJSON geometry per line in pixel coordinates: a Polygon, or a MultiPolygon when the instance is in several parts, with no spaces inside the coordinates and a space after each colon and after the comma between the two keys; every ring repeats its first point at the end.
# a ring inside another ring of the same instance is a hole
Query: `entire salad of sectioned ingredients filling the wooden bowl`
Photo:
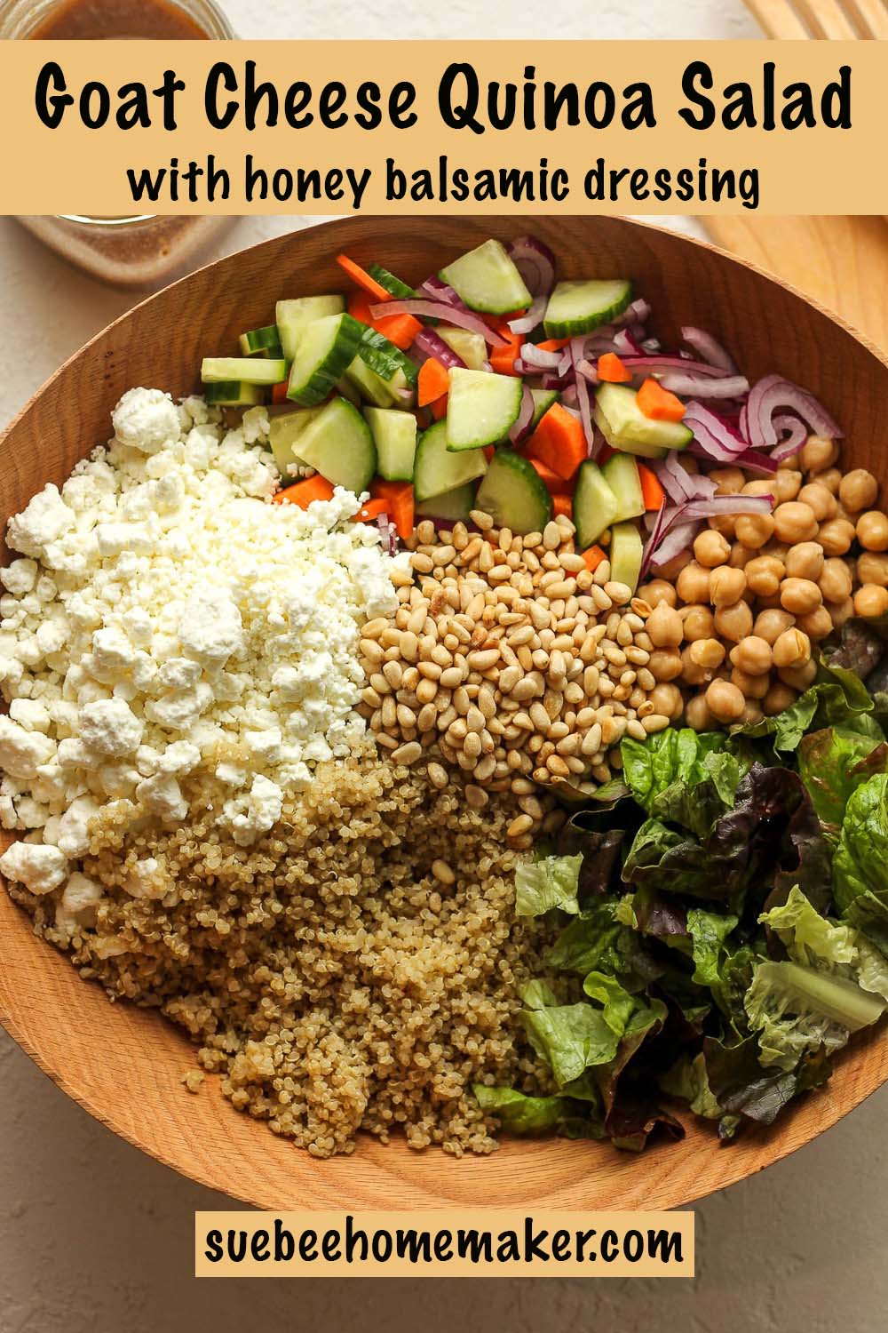
{"type": "Polygon", "coordinates": [[[8,892],[320,1157],[770,1125],[888,1006],[876,477],[534,237],[338,263],[8,520],[8,892]]]}

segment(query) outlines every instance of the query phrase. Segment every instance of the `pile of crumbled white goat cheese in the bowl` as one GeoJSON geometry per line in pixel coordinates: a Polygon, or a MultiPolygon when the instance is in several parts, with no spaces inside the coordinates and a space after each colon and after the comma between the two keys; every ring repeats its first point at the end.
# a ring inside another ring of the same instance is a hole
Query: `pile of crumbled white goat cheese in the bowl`
{"type": "MultiPolygon", "coordinates": [[[[181,821],[181,782],[201,774],[246,846],[314,764],[359,746],[358,632],[397,608],[395,561],[349,521],[355,496],[268,503],[265,408],[225,432],[201,399],[140,388],[113,428],[9,520],[24,559],[0,572],[0,824],[32,830],[0,872],[33,893],[67,882],[67,932],[95,921],[79,862],[103,809],[181,821]]],[[[133,872],[134,896],[156,869],[133,872]]]]}

